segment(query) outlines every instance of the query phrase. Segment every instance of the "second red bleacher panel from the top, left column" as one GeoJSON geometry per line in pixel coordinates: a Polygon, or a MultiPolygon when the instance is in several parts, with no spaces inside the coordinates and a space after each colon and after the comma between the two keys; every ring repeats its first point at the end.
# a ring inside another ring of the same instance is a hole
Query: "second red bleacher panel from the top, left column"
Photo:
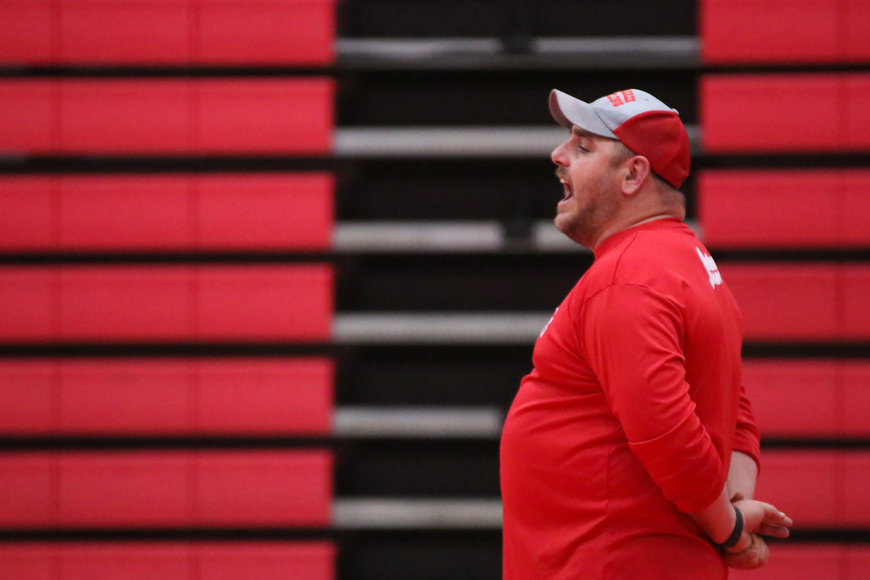
{"type": "Polygon", "coordinates": [[[0,152],[325,154],[333,83],[294,79],[0,82],[0,152]]]}

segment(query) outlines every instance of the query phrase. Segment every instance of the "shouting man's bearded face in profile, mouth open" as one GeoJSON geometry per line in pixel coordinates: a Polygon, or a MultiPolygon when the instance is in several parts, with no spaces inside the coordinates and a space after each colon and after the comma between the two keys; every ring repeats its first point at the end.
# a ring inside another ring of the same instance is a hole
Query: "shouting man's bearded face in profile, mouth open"
{"type": "Polygon", "coordinates": [[[574,127],[570,138],[551,158],[565,196],[556,208],[556,227],[563,234],[592,248],[598,235],[619,211],[619,158],[612,139],[574,127]]]}

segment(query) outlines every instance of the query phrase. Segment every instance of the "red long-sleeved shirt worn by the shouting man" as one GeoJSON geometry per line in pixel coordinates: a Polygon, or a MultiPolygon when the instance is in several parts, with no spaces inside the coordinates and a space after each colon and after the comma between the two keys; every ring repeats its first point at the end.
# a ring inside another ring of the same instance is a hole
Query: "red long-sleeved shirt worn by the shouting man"
{"type": "Polygon", "coordinates": [[[501,443],[505,580],[726,578],[683,512],[759,460],[742,322],[677,219],[607,238],[535,345],[501,443]]]}

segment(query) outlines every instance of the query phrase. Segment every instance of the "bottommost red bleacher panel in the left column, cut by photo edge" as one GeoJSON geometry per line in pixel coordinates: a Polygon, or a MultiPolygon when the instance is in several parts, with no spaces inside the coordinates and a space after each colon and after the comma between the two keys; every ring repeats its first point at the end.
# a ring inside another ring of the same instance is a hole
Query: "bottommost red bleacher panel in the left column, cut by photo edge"
{"type": "Polygon", "coordinates": [[[326,542],[23,542],[0,544],[0,569],[15,580],[331,580],[326,542]]]}

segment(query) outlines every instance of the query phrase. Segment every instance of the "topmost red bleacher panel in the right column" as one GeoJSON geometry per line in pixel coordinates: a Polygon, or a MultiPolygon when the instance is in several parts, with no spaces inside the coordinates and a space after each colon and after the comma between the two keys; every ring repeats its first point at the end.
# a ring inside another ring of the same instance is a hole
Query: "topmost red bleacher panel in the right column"
{"type": "Polygon", "coordinates": [[[705,63],[852,63],[870,60],[862,0],[701,0],[705,63]]]}

